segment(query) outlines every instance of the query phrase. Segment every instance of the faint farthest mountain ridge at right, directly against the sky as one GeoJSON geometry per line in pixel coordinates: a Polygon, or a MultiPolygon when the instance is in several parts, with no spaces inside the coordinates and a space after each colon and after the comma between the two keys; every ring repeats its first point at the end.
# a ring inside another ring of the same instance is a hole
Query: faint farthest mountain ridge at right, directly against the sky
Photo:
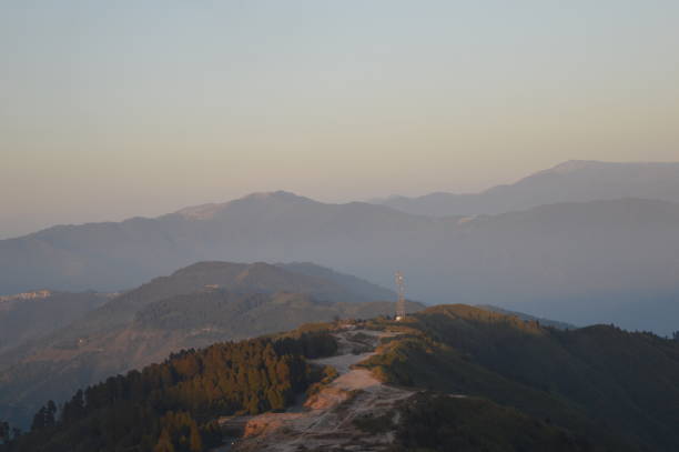
{"type": "Polygon", "coordinates": [[[679,162],[611,163],[571,160],[516,183],[497,185],[480,193],[436,192],[416,198],[393,195],[371,202],[414,214],[448,217],[497,214],[557,202],[621,198],[679,202],[679,162]]]}

